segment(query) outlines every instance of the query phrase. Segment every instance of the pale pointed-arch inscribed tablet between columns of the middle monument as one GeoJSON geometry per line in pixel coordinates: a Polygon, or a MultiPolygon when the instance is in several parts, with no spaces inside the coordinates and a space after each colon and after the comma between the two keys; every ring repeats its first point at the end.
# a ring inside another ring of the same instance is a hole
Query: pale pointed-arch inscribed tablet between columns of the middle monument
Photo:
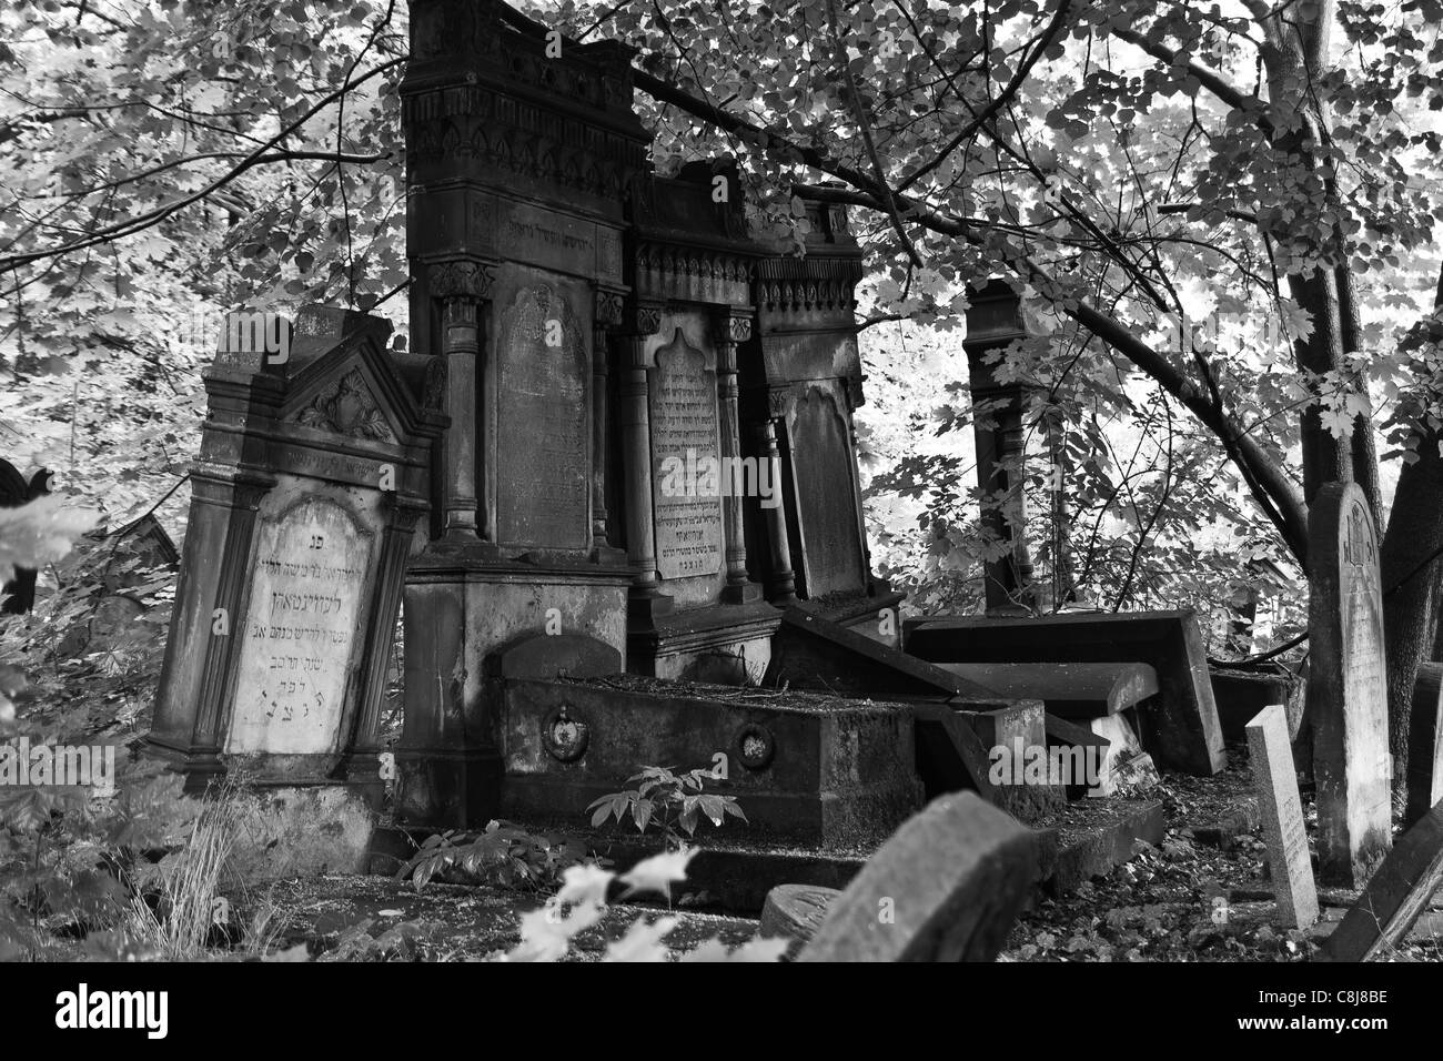
{"type": "MultiPolygon", "coordinates": [[[[664,579],[722,570],[716,371],[678,328],[649,372],[657,570],[664,579]]],[[[730,486],[729,486],[730,488],[730,486]]]]}

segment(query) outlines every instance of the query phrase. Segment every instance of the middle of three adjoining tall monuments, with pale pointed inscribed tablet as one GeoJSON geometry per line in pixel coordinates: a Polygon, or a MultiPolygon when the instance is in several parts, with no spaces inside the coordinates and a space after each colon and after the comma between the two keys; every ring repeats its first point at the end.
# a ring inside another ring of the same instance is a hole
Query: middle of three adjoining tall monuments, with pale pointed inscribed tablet
{"type": "Polygon", "coordinates": [[[743,456],[737,349],[752,336],[750,274],[733,165],[697,162],[632,186],[622,364],[619,541],[638,569],[628,667],[743,684],[766,668],[776,609],[747,570],[745,508],[779,502],[776,469],[743,456]]]}

